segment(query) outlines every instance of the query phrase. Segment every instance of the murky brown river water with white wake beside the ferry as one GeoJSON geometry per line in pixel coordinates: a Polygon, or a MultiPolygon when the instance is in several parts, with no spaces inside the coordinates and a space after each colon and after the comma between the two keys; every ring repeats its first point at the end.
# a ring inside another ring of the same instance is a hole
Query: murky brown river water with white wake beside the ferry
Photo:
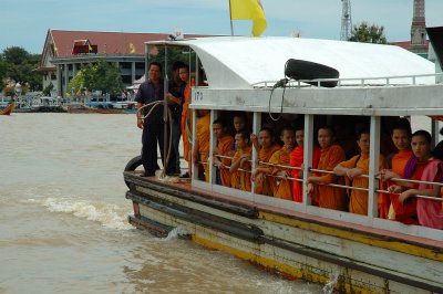
{"type": "Polygon", "coordinates": [[[127,224],[134,115],[0,116],[0,293],[322,293],[127,224]]]}

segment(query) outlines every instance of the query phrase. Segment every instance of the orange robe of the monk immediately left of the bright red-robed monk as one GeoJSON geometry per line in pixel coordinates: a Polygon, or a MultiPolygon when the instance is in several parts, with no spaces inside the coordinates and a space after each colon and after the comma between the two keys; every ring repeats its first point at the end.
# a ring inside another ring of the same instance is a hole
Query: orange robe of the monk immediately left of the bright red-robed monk
{"type": "MultiPolygon", "coordinates": [[[[280,150],[277,150],[272,154],[269,159],[269,164],[272,165],[281,165],[281,166],[289,166],[289,154],[286,151],[286,147],[282,147],[280,150]]],[[[289,168],[281,168],[281,167],[271,167],[271,175],[277,175],[280,171],[286,170],[290,175],[289,168]]],[[[275,190],[274,197],[292,200],[292,192],[291,192],[291,181],[281,178],[274,178],[275,182],[275,190]]]]}

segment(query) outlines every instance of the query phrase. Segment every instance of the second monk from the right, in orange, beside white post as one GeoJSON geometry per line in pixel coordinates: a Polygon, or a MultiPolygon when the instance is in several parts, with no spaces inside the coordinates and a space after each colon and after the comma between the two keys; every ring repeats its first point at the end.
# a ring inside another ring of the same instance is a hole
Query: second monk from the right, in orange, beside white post
{"type": "MultiPolygon", "coordinates": [[[[383,181],[388,181],[389,179],[393,178],[394,175],[396,175],[399,178],[403,176],[406,162],[413,157],[413,153],[411,150],[411,124],[409,120],[406,118],[399,118],[391,133],[392,143],[399,151],[393,155],[391,160],[388,160],[388,167],[391,170],[382,170],[380,172],[383,181]]],[[[387,185],[390,186],[393,185],[393,182],[387,182],[387,185]]],[[[380,218],[392,220],[396,219],[395,210],[391,206],[392,199],[398,202],[399,196],[379,193],[380,218]]],[[[400,208],[400,206],[398,207],[400,208]]]]}

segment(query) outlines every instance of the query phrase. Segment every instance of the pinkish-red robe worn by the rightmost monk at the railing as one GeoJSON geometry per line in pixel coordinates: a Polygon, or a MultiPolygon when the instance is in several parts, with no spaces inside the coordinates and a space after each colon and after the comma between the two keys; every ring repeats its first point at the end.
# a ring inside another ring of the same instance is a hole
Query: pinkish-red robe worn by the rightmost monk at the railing
{"type": "MultiPolygon", "coordinates": [[[[434,159],[427,164],[423,170],[421,180],[423,181],[436,181],[440,182],[442,179],[442,161],[434,159]]],[[[432,185],[420,183],[419,189],[432,189],[432,185]]],[[[440,196],[441,197],[441,196],[440,196]]],[[[418,198],[416,199],[416,216],[419,223],[424,227],[443,229],[443,210],[441,201],[427,200],[418,198]]]]}

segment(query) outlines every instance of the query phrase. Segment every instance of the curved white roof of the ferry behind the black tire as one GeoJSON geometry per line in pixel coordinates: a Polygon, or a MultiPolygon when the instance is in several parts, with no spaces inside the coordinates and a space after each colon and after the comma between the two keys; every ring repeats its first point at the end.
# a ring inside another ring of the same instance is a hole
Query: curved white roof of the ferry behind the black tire
{"type": "MultiPolygon", "coordinates": [[[[435,74],[432,62],[395,45],[284,36],[216,36],[146,44],[190,46],[198,54],[212,88],[251,88],[279,81],[285,77],[289,59],[331,66],[340,72],[340,78],[435,74]]],[[[357,84],[342,84],[352,83],[357,84]]],[[[411,84],[411,80],[394,83],[411,84]]],[[[435,76],[420,77],[418,83],[435,84],[435,76]]]]}

